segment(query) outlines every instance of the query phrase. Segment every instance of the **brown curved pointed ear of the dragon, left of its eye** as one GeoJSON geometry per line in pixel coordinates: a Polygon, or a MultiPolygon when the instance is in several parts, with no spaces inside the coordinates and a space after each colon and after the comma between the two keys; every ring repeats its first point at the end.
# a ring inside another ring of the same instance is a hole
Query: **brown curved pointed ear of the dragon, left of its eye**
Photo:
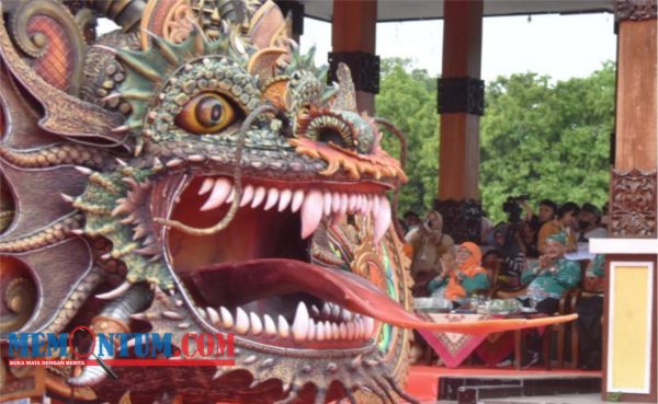
{"type": "Polygon", "coordinates": [[[113,129],[125,118],[48,84],[16,54],[1,19],[0,59],[21,86],[43,106],[44,117],[38,123],[42,129],[71,140],[121,142],[124,134],[113,129]]]}

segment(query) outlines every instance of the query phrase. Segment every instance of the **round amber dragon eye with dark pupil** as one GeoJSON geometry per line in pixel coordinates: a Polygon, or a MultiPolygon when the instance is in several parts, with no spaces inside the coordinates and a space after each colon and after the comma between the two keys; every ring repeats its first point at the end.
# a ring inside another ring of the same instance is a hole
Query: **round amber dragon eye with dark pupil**
{"type": "Polygon", "coordinates": [[[175,124],[193,134],[212,134],[226,128],[236,118],[234,106],[216,93],[202,93],[188,101],[175,124]]]}

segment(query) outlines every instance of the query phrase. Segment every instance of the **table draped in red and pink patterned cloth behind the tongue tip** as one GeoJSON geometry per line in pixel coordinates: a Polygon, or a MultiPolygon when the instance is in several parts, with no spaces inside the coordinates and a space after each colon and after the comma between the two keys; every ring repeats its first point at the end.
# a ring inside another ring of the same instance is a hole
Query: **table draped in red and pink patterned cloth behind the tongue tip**
{"type": "MultiPolygon", "coordinates": [[[[524,313],[499,315],[434,312],[419,312],[418,314],[424,320],[435,323],[473,322],[489,319],[536,319],[544,315],[524,313]]],[[[540,332],[540,335],[542,335],[544,367],[549,370],[551,361],[548,359],[548,354],[551,348],[551,326],[538,327],[537,331],[540,332]]],[[[492,333],[489,335],[441,333],[428,330],[418,330],[418,333],[426,339],[436,355],[439,355],[447,368],[458,367],[474,353],[489,367],[495,367],[512,351],[514,351],[515,368],[522,368],[523,353],[525,351],[524,335],[526,330],[492,333]]]]}

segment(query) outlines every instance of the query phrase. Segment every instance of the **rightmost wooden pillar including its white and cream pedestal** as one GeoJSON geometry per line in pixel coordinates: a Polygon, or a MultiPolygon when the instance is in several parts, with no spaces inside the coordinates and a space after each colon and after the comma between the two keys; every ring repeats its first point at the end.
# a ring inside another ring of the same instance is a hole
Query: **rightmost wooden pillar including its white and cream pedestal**
{"type": "Polygon", "coordinates": [[[656,402],[658,91],[656,0],[617,0],[615,160],[606,254],[602,399],[656,402]]]}

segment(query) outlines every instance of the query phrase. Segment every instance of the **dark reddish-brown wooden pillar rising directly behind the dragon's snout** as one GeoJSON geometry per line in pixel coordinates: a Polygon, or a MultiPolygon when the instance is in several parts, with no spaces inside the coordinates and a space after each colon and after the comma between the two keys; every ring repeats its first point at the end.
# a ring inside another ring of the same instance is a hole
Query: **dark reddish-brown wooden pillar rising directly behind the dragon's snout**
{"type": "Polygon", "coordinates": [[[333,1],[329,80],[344,62],[352,71],[359,111],[374,115],[375,94],[379,92],[379,57],[375,55],[377,1],[333,1]]]}

